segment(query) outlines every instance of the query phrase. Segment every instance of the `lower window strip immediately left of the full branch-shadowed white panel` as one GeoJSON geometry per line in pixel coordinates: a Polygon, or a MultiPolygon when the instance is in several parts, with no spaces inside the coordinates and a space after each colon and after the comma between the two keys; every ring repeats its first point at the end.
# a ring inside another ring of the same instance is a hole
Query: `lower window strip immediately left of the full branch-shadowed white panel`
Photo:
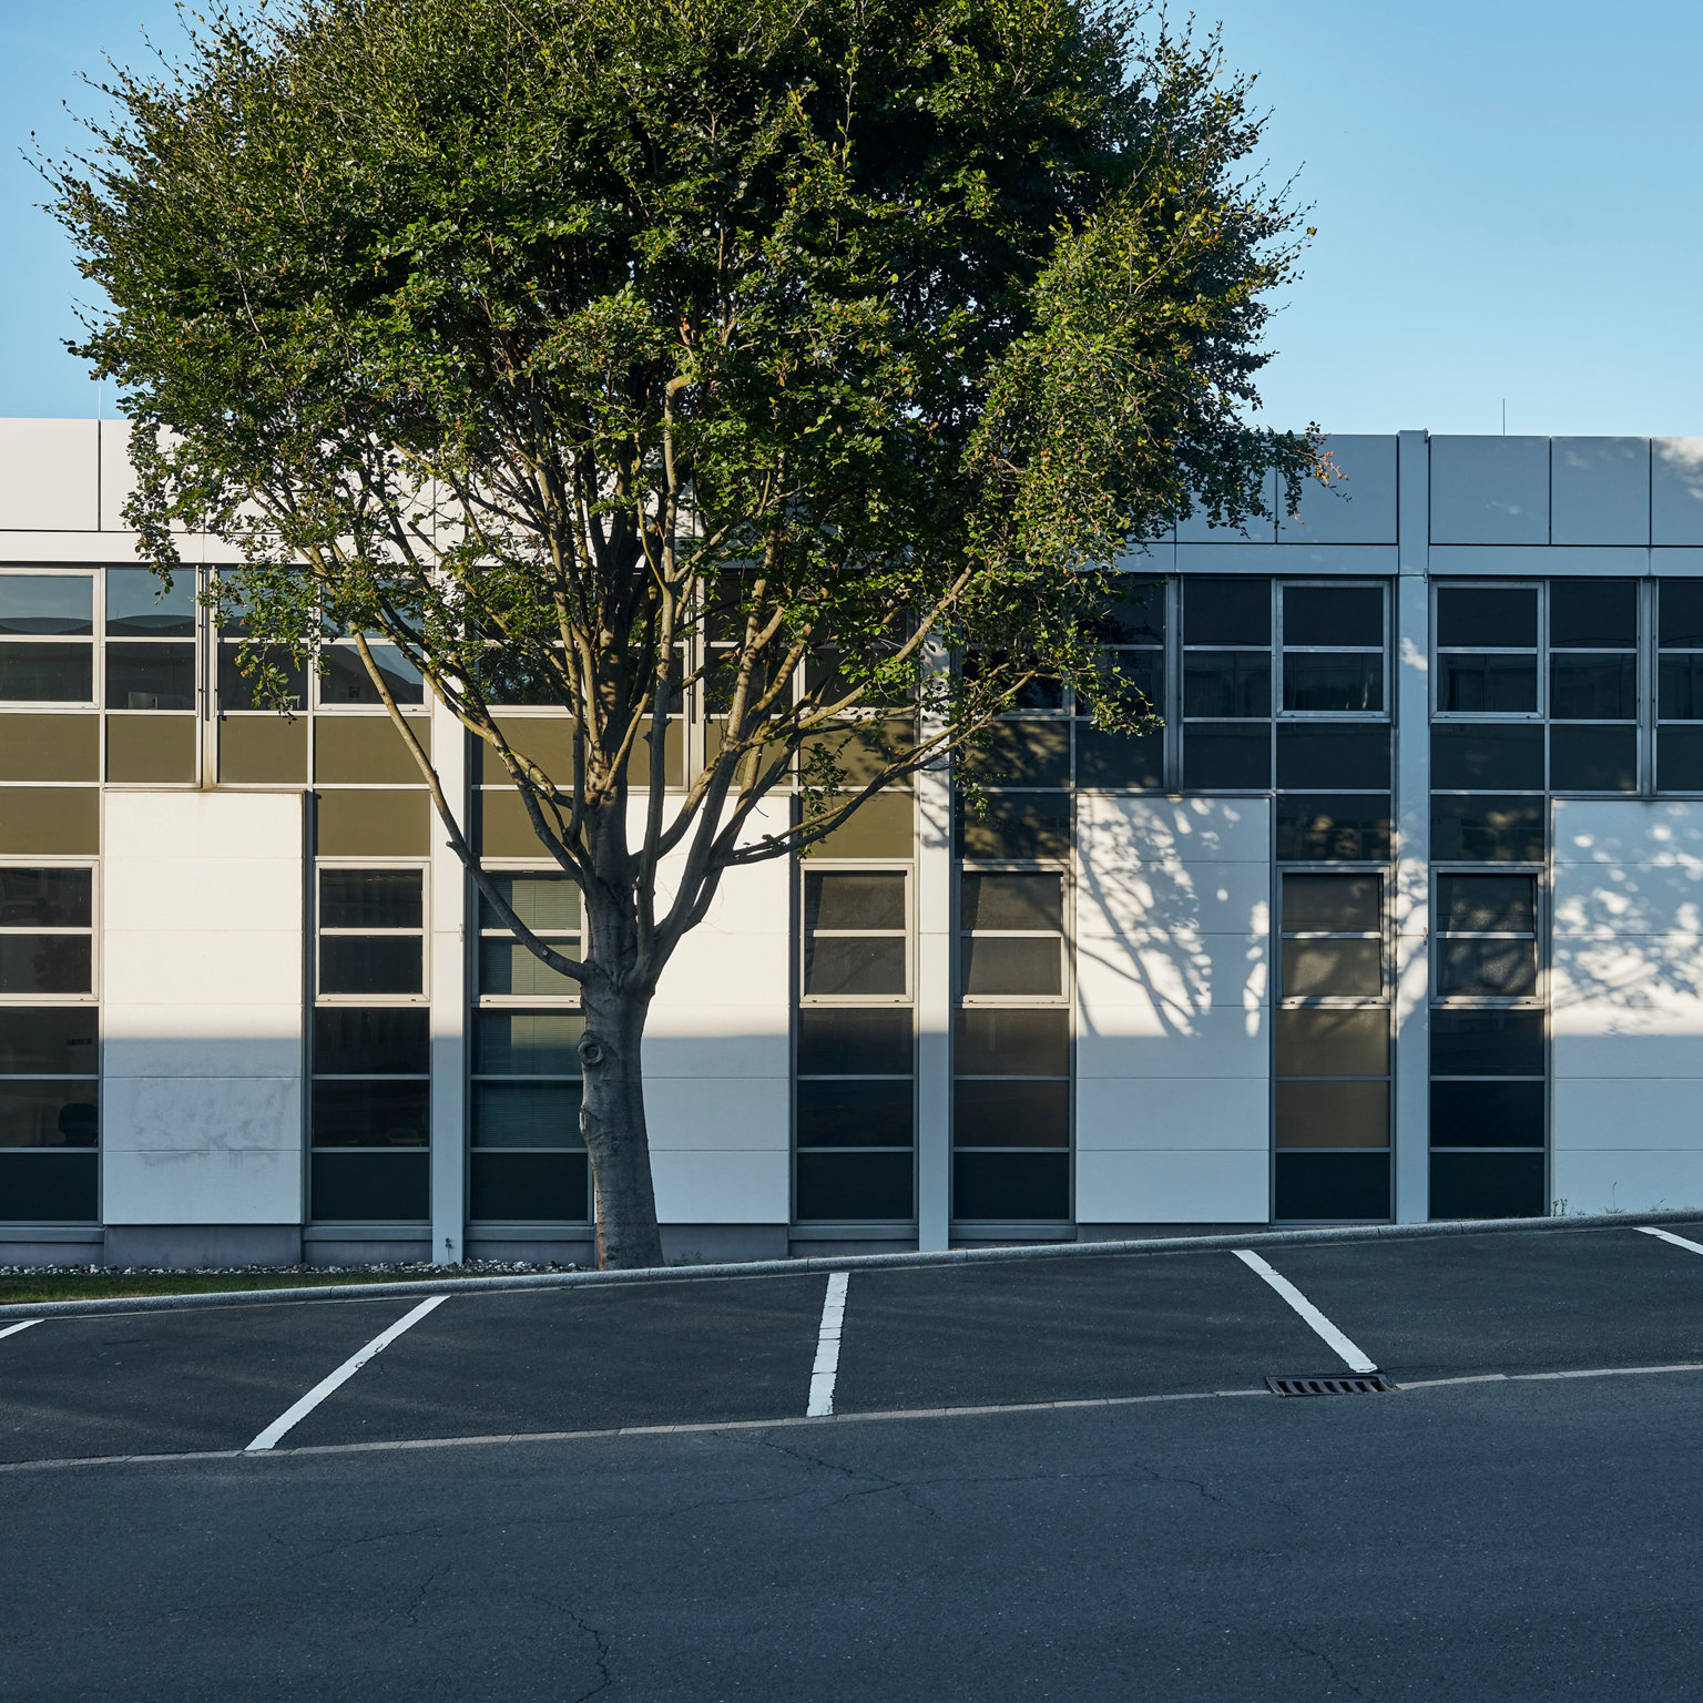
{"type": "Polygon", "coordinates": [[[1071,1049],[1061,870],[964,869],[952,1216],[1069,1218],[1071,1049]]]}

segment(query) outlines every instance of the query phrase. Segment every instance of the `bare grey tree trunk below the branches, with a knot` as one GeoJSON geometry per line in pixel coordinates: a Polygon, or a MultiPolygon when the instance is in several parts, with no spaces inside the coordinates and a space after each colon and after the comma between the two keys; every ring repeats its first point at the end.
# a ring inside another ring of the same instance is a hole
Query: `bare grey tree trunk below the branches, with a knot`
{"type": "Polygon", "coordinates": [[[586,1092],[579,1127],[598,1187],[598,1267],[661,1265],[662,1235],[651,1187],[651,1138],[639,1061],[651,1000],[588,984],[582,1005],[586,1034],[579,1042],[579,1068],[586,1092]]]}

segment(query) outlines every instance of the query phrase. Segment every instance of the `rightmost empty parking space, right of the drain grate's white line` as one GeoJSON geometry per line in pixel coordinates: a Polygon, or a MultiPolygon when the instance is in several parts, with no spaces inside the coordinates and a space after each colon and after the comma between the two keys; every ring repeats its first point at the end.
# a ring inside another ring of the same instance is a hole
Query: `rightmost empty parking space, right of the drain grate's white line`
{"type": "Polygon", "coordinates": [[[1270,1259],[1398,1379],[1703,1361],[1703,1260],[1630,1226],[1270,1259]]]}

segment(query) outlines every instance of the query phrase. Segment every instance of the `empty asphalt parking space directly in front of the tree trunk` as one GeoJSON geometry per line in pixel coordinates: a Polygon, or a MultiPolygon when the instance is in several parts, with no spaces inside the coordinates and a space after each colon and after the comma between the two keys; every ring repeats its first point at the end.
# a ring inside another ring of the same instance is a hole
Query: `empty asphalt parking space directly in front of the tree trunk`
{"type": "Polygon", "coordinates": [[[456,1294],[284,1446],[802,1413],[826,1282],[800,1272],[456,1294]]]}

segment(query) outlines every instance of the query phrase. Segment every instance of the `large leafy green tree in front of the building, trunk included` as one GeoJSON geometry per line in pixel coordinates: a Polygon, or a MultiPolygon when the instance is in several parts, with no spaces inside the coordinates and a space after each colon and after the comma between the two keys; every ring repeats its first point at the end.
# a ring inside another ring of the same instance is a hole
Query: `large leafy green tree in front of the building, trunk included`
{"type": "Polygon", "coordinates": [[[579,886],[599,1259],[659,1260],[639,1047],[729,869],[1100,664],[1131,540],[1287,502],[1243,424],[1299,215],[1218,41],[1100,0],[286,0],[114,68],[53,211],[140,550],[245,567],[245,666],[395,644],[579,886]],[[502,703],[572,715],[572,771],[502,703]],[[666,785],[669,710],[714,719],[666,785]],[[647,760],[639,780],[637,756],[647,760]],[[787,824],[753,816],[792,799],[787,824]],[[664,860],[668,867],[664,870],[664,860]]]}

